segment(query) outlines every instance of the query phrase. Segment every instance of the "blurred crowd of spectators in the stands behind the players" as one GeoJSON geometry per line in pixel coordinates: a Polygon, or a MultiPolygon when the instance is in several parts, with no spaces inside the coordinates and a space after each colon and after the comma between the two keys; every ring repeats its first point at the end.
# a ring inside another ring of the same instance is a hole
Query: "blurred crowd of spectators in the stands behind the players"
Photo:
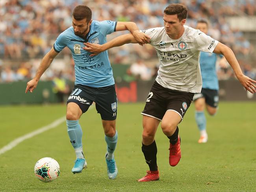
{"type": "MultiPolygon", "coordinates": [[[[31,79],[42,57],[52,48],[59,33],[72,24],[72,10],[85,4],[94,20],[133,21],[141,30],[163,26],[163,10],[171,3],[188,8],[186,25],[198,19],[210,23],[209,35],[234,51],[246,75],[256,78],[254,44],[243,32],[232,30],[226,17],[256,15],[256,0],[1,0],[0,1],[0,82],[31,79]]],[[[108,40],[126,32],[108,35],[108,40]]],[[[255,33],[254,33],[255,36],[255,33]]],[[[156,76],[158,59],[150,45],[126,44],[108,51],[111,63],[132,64],[128,76],[149,80],[156,76]]],[[[61,74],[74,81],[71,54],[65,48],[42,79],[61,74]],[[58,60],[59,59],[59,60],[58,60]]],[[[228,66],[228,65],[227,65],[228,66]]],[[[233,75],[230,67],[218,66],[219,79],[233,75]]]]}

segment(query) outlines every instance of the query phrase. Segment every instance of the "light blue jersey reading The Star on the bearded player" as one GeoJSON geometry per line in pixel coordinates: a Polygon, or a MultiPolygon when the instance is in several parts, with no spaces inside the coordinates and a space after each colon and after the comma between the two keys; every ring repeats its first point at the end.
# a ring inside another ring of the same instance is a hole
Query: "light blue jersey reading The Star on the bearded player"
{"type": "Polygon", "coordinates": [[[117,22],[93,20],[85,39],[74,34],[74,28],[63,31],[54,43],[54,50],[61,52],[66,46],[72,52],[75,63],[75,85],[82,84],[89,87],[106,87],[115,84],[113,71],[108,59],[108,52],[104,51],[90,57],[90,52],[82,49],[84,42],[97,44],[106,43],[106,35],[115,31],[117,22]]]}

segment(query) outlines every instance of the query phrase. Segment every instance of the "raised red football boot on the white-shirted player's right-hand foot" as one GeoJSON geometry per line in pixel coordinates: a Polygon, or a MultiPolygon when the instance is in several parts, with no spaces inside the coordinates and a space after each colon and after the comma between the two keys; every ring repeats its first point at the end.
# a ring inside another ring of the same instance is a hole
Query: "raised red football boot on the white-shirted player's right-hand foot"
{"type": "Polygon", "coordinates": [[[176,166],[181,158],[180,151],[180,136],[178,136],[178,141],[173,145],[170,143],[170,154],[169,154],[169,163],[171,166],[176,166]]]}

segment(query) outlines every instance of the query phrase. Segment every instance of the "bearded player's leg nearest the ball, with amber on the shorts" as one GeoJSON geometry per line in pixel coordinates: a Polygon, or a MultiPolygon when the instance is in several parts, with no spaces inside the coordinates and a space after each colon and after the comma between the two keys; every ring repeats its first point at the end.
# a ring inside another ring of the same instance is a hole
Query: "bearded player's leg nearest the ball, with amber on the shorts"
{"type": "Polygon", "coordinates": [[[84,87],[75,86],[67,100],[67,131],[70,142],[76,153],[76,161],[72,172],[74,174],[81,173],[83,169],[87,168],[87,163],[83,154],[82,145],[82,128],[79,124],[79,119],[85,113],[92,101],[86,98],[87,90],[84,87]]]}

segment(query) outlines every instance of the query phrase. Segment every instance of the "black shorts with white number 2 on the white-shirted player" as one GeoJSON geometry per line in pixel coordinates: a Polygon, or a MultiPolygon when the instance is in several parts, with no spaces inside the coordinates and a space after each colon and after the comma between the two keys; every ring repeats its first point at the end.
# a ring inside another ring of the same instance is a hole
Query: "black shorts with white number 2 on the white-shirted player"
{"type": "Polygon", "coordinates": [[[141,114],[162,120],[166,111],[175,111],[183,119],[194,93],[167,89],[156,81],[148,94],[146,105],[141,114]]]}

